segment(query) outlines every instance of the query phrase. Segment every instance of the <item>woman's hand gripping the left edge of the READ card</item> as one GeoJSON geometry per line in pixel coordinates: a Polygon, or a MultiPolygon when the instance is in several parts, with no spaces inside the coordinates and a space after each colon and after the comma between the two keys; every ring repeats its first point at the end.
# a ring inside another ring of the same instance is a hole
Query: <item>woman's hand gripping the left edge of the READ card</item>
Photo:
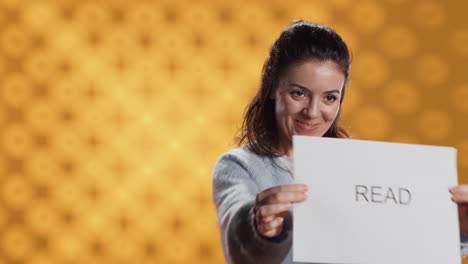
{"type": "Polygon", "coordinates": [[[304,201],[307,190],[305,184],[284,184],[258,193],[253,208],[258,233],[265,237],[279,235],[291,204],[304,201]]]}

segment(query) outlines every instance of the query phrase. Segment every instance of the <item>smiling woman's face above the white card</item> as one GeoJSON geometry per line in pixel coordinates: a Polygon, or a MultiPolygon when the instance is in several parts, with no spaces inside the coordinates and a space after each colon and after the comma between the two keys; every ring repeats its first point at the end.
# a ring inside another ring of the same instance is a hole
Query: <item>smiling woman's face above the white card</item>
{"type": "Polygon", "coordinates": [[[344,74],[334,62],[292,65],[272,95],[281,147],[292,154],[292,136],[321,137],[340,110],[344,74]]]}

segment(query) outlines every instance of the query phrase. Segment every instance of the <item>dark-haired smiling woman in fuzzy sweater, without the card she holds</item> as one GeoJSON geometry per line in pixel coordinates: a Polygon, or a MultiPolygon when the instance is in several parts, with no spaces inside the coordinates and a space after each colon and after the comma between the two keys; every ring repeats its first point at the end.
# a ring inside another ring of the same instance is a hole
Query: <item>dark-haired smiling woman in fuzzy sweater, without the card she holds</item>
{"type": "MultiPolygon", "coordinates": [[[[290,209],[308,190],[292,184],[292,136],[348,137],[339,116],[350,63],[341,37],[319,24],[294,22],[273,44],[238,139],[245,145],[213,171],[229,263],[292,263],[290,209]]],[[[468,190],[453,191],[468,200],[468,190]]]]}

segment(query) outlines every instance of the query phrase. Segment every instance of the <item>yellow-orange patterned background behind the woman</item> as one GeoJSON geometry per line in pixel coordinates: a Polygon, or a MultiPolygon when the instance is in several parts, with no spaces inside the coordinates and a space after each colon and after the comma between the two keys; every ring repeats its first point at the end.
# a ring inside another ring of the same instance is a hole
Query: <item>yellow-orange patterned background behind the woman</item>
{"type": "MultiPolygon", "coordinates": [[[[223,263],[211,200],[294,19],[353,53],[353,138],[454,146],[465,1],[0,1],[0,263],[223,263]]],[[[468,263],[468,262],[465,262],[468,263]]]]}

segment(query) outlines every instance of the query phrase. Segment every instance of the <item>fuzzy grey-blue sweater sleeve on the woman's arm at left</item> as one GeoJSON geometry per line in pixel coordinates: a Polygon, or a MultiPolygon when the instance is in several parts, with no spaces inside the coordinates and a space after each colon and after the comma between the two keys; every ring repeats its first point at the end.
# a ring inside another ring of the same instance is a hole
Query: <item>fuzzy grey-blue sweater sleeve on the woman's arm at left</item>
{"type": "Polygon", "coordinates": [[[227,153],[218,159],[213,171],[213,199],[228,263],[281,263],[291,247],[291,217],[285,218],[278,237],[268,239],[257,232],[252,210],[258,192],[241,157],[227,153]]]}

